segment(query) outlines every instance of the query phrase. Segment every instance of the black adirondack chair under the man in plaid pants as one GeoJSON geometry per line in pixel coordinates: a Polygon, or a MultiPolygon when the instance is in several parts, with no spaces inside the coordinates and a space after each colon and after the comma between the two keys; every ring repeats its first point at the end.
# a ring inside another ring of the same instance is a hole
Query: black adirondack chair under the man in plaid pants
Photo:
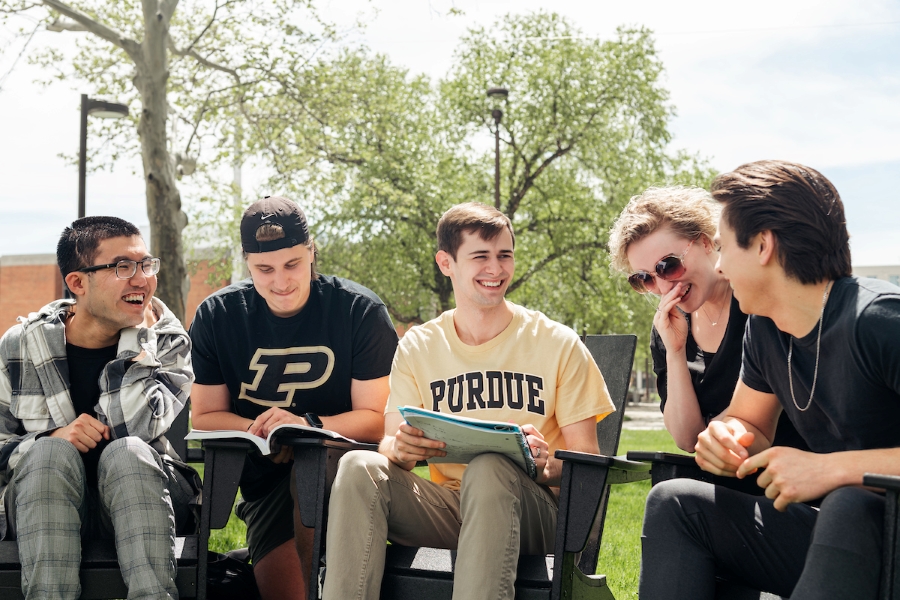
{"type": "MultiPolygon", "coordinates": [[[[200,460],[196,453],[188,455],[184,436],[187,433],[188,409],[175,420],[167,439],[183,459],[200,460]]],[[[206,508],[206,506],[204,506],[206,508]]],[[[229,507],[230,508],[230,507],[229,507]]],[[[227,517],[226,517],[227,521],[227,517]]],[[[224,523],[220,526],[224,527],[224,523]]],[[[175,556],[178,559],[176,583],[182,598],[204,598],[205,579],[198,575],[201,562],[206,563],[206,540],[197,533],[179,535],[175,556]],[[203,549],[200,552],[200,549],[203,549]]],[[[125,598],[128,590],[119,571],[116,546],[113,540],[86,540],[82,545],[81,587],[84,600],[101,598],[125,598]]],[[[19,550],[15,541],[0,541],[0,598],[18,600],[22,595],[22,569],[19,550]]]]}

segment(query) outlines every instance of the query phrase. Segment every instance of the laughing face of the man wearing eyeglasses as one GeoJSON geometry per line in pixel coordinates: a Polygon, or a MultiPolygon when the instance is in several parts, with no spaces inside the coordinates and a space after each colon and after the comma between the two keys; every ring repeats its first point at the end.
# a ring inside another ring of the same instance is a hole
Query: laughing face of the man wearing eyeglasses
{"type": "MultiPolygon", "coordinates": [[[[140,236],[120,236],[101,241],[92,264],[141,261],[149,257],[140,236]]],[[[75,316],[67,323],[67,337],[76,336],[76,331],[91,332],[91,339],[101,343],[103,339],[107,342],[118,339],[119,331],[144,321],[147,306],[156,292],[156,275],[144,275],[138,265],[130,279],[119,279],[116,270],[110,268],[91,273],[69,273],[66,284],[77,302],[75,316]]],[[[74,339],[70,341],[84,347],[102,347],[83,341],[76,343],[74,339]]]]}

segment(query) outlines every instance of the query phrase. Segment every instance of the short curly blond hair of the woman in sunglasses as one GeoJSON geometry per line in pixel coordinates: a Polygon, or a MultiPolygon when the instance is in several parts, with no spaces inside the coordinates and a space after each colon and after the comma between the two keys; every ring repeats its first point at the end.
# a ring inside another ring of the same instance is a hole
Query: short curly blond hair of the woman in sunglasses
{"type": "Polygon", "coordinates": [[[614,269],[631,271],[628,247],[654,231],[669,227],[685,239],[702,235],[712,240],[719,220],[719,205],[699,187],[675,185],[648,188],[631,198],[609,231],[609,256],[614,269]]]}

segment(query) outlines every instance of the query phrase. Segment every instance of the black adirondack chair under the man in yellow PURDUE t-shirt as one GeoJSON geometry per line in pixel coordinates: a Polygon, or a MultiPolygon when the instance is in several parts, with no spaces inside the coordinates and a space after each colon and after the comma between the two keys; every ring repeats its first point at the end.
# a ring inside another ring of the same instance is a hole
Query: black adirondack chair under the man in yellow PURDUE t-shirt
{"type": "MultiPolygon", "coordinates": [[[[616,412],[597,424],[600,456],[569,451],[556,453],[565,463],[554,554],[520,557],[516,598],[613,598],[606,586],[606,576],[594,574],[610,485],[649,477],[647,465],[612,458],[619,445],[636,341],[633,335],[591,335],[585,339],[606,379],[616,412]]],[[[382,599],[449,600],[455,559],[456,553],[450,550],[391,545],[382,599]]]]}

